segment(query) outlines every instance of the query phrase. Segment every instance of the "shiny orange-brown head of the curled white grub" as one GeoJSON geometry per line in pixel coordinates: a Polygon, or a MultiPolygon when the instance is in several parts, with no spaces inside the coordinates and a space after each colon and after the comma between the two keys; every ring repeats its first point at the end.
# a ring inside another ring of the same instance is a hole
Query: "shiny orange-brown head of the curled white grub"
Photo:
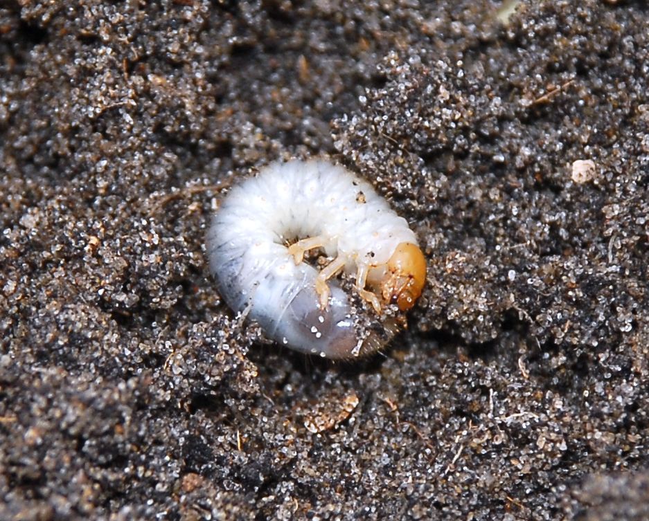
{"type": "Polygon", "coordinates": [[[386,302],[396,302],[401,311],[415,305],[426,283],[426,259],[419,246],[399,244],[386,264],[381,293],[386,302]]]}

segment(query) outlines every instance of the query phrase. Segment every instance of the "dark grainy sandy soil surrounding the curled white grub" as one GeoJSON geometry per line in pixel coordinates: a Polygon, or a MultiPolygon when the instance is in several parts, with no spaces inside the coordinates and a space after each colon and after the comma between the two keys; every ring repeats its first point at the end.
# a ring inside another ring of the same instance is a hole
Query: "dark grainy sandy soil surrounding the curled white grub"
{"type": "Polygon", "coordinates": [[[649,10],[507,4],[0,2],[0,519],[649,518],[649,10]],[[294,158],[423,251],[375,356],[218,295],[294,158]]]}

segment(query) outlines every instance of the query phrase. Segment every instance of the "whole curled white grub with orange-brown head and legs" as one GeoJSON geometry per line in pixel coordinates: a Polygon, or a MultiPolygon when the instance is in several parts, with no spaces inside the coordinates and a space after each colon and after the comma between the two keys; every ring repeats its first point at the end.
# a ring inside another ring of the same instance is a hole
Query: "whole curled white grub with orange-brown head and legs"
{"type": "Polygon", "coordinates": [[[272,163],[235,186],[213,216],[206,250],[231,309],[279,344],[327,358],[380,349],[397,329],[394,310],[413,307],[426,280],[407,221],[370,183],[321,160],[272,163]],[[320,270],[304,259],[316,249],[329,260],[320,270]],[[354,277],[354,298],[341,272],[354,277]],[[382,333],[366,327],[355,301],[371,304],[382,333]]]}

